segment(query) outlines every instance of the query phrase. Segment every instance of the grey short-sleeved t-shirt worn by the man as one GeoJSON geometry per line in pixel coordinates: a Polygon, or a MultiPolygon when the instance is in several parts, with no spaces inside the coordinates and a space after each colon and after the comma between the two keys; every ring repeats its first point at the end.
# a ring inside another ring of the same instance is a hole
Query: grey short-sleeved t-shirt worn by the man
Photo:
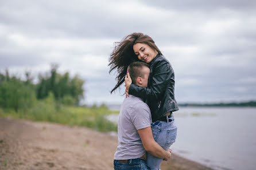
{"type": "Polygon", "coordinates": [[[136,159],[146,152],[137,130],[151,126],[150,109],[141,98],[123,100],[118,117],[118,147],[115,160],[136,159]]]}

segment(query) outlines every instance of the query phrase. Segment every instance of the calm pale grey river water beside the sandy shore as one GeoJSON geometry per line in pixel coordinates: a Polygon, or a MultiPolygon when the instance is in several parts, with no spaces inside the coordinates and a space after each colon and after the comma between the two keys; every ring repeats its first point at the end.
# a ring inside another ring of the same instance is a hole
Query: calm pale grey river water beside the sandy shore
{"type": "Polygon", "coordinates": [[[256,108],[180,107],[174,118],[173,153],[218,170],[256,169],[256,108]]]}

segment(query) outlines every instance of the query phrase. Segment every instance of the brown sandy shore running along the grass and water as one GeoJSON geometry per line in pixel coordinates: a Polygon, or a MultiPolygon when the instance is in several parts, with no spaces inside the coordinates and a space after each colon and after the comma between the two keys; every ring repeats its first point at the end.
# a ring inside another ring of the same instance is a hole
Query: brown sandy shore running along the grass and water
{"type": "MultiPolygon", "coordinates": [[[[113,170],[117,141],[88,128],[0,118],[0,170],[113,170]]],[[[176,155],[161,169],[210,170],[176,155]]]]}

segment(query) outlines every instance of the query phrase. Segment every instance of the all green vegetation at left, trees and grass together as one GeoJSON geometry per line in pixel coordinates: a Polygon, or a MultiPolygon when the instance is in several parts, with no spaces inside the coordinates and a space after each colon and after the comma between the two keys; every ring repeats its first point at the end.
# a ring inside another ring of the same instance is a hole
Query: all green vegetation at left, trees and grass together
{"type": "Polygon", "coordinates": [[[60,124],[87,126],[98,131],[117,131],[117,125],[104,116],[113,113],[102,104],[91,108],[75,106],[83,97],[84,81],[78,76],[69,77],[51,69],[51,76],[39,76],[32,84],[31,74],[26,81],[0,73],[0,116],[49,121],[60,124]],[[37,96],[37,97],[36,97],[37,96]]]}

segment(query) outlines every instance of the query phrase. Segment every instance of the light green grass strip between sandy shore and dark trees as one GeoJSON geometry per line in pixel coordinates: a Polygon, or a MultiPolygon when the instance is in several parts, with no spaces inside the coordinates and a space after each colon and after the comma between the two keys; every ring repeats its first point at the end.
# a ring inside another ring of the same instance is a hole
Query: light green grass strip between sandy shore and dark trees
{"type": "Polygon", "coordinates": [[[86,126],[97,131],[117,131],[117,125],[104,118],[107,114],[119,112],[108,109],[106,106],[82,107],[56,105],[56,102],[38,101],[30,109],[18,110],[1,109],[0,117],[20,118],[32,121],[56,122],[70,126],[86,126]]]}

